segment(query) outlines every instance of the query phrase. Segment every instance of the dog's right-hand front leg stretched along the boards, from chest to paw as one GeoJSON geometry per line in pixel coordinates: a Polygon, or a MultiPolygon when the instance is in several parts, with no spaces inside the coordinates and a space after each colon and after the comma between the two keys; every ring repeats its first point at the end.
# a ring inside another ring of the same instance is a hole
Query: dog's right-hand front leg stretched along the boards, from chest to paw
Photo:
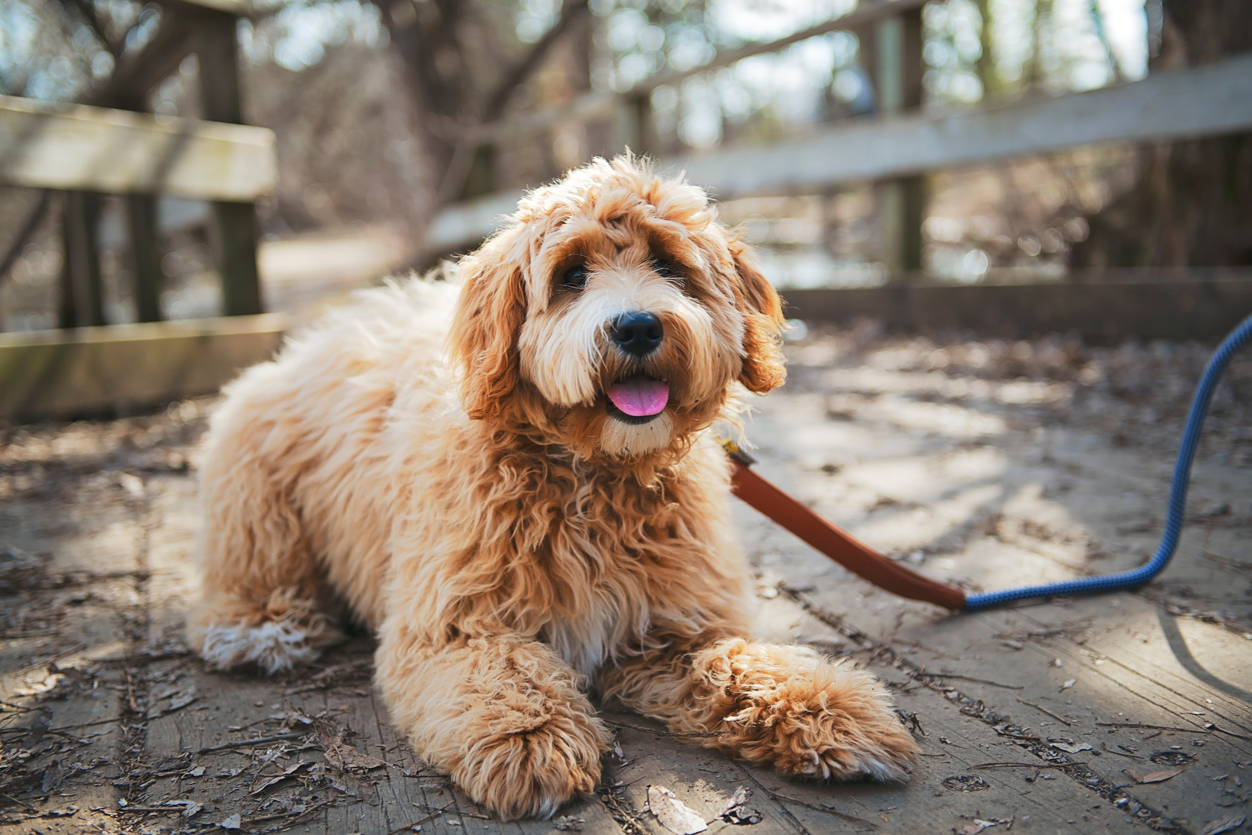
{"type": "Polygon", "coordinates": [[[664,647],[606,665],[601,692],[692,742],[784,774],[904,780],[918,746],[869,672],[800,646],[724,638],[664,647]]]}

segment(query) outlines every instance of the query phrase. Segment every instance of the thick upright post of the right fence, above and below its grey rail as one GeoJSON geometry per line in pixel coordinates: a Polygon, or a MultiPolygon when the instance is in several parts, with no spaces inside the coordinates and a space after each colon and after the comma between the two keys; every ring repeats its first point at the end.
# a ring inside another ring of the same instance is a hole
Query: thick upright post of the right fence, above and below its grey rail
{"type": "MultiPolygon", "coordinates": [[[[910,9],[878,24],[873,63],[880,116],[921,106],[921,9],[910,9]]],[[[899,177],[876,187],[883,230],[883,262],[894,273],[921,269],[921,220],[925,180],[899,177]]]]}

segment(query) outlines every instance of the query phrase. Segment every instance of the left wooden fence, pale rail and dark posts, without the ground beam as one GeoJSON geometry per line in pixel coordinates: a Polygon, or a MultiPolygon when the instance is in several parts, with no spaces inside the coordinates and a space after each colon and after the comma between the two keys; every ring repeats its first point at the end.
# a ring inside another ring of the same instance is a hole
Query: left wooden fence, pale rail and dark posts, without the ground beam
{"type": "Polygon", "coordinates": [[[228,315],[262,312],[255,200],[278,182],[274,134],[240,124],[235,24],[243,0],[168,0],[156,34],[121,60],[95,105],[0,96],[0,184],[64,192],[61,327],[103,325],[100,195],[125,195],[140,322],[160,318],[156,195],[213,202],[228,315]],[[204,121],[140,113],[189,53],[204,121]]]}

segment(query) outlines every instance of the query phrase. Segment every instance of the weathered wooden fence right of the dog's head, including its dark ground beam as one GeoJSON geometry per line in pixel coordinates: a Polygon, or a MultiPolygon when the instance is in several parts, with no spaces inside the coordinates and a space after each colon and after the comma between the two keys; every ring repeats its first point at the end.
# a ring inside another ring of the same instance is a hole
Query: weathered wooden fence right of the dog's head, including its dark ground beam
{"type": "MultiPolygon", "coordinates": [[[[475,134],[480,141],[536,133],[567,121],[616,116],[622,143],[650,150],[649,96],[661,84],[846,30],[861,44],[876,113],[841,120],[765,146],[725,146],[662,156],[661,170],[720,199],[820,194],[873,183],[884,238],[888,287],[790,289],[790,315],[850,322],[874,317],[914,329],[973,328],[1003,336],[1069,330],[1092,339],[1213,338],[1252,310],[1252,272],[1116,270],[1065,283],[942,285],[916,280],[921,268],[921,177],[929,172],[1064,151],[1101,143],[1147,143],[1252,130],[1252,54],[1063,96],[921,111],[924,0],[863,4],[855,11],[777,41],[717,54],[704,66],[645,80],[620,94],[588,94],[562,108],[522,114],[475,134]]],[[[520,192],[443,209],[426,235],[428,253],[477,245],[510,214],[520,192]]]]}

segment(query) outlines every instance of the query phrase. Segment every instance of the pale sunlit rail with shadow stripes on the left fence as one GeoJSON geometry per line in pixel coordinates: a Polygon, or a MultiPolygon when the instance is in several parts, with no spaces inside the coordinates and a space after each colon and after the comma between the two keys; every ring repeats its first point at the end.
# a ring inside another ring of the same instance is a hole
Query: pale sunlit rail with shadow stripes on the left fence
{"type": "Polygon", "coordinates": [[[253,202],[278,161],[267,128],[0,96],[0,183],[253,202]]]}

